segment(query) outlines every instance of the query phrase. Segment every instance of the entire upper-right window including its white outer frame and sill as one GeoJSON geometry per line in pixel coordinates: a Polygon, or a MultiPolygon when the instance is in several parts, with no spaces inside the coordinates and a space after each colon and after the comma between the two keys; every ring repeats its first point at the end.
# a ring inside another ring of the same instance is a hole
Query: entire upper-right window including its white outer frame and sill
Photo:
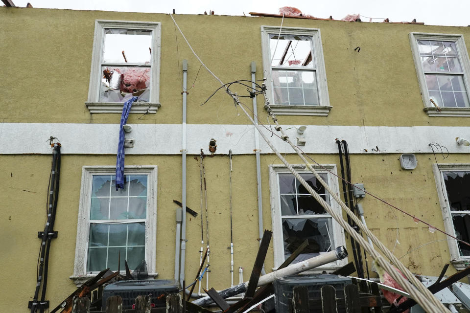
{"type": "Polygon", "coordinates": [[[470,115],[469,56],[461,35],[411,33],[426,111],[430,116],[470,115]]]}

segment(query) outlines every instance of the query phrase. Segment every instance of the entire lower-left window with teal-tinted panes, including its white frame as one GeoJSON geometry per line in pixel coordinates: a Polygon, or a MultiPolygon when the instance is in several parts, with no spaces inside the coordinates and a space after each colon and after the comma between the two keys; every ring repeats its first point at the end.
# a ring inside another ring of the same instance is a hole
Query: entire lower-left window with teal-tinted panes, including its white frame
{"type": "Polygon", "coordinates": [[[124,269],[125,260],[131,269],[145,261],[154,272],[156,167],[126,167],[118,191],[115,171],[83,170],[74,276],[124,269]]]}

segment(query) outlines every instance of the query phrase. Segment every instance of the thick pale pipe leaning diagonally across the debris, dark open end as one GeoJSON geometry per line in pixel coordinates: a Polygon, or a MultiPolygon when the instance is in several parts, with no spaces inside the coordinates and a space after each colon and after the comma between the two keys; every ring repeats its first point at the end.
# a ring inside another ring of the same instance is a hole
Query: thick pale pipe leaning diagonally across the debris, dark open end
{"type": "MultiPolygon", "coordinates": [[[[325,264],[328,264],[337,260],[342,260],[346,257],[348,257],[348,252],[346,251],[346,248],[344,246],[339,246],[336,249],[329,251],[327,253],[321,254],[319,256],[310,258],[308,260],[305,260],[296,264],[291,264],[288,267],[275,270],[269,274],[259,277],[258,287],[272,283],[274,282],[276,278],[281,278],[281,277],[285,277],[288,275],[295,275],[308,269],[317,268],[319,266],[322,266],[322,265],[325,265],[325,264]]],[[[219,291],[219,294],[220,296],[222,296],[222,298],[226,299],[236,294],[245,292],[247,287],[248,287],[248,282],[244,282],[234,287],[230,287],[222,291],[219,291]]],[[[201,306],[201,307],[209,305],[212,302],[213,301],[209,296],[192,301],[192,303],[197,304],[198,306],[201,306]]]]}

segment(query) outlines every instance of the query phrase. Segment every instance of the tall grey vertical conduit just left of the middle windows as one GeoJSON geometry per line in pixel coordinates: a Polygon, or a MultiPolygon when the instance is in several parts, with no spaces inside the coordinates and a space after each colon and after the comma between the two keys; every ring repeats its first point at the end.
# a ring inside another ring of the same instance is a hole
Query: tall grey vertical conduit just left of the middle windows
{"type": "MultiPolygon", "coordinates": [[[[251,62],[251,88],[255,91],[255,81],[256,81],[256,63],[255,61],[251,62]]],[[[258,125],[258,107],[256,105],[256,97],[253,98],[253,119],[255,120],[255,124],[258,125]]],[[[261,239],[263,238],[264,227],[263,227],[263,200],[261,194],[261,163],[259,160],[259,134],[255,131],[255,153],[256,153],[256,179],[258,185],[258,233],[259,233],[259,244],[261,245],[261,239]]],[[[266,271],[264,270],[264,263],[263,267],[261,268],[261,274],[265,275],[266,271]]]]}

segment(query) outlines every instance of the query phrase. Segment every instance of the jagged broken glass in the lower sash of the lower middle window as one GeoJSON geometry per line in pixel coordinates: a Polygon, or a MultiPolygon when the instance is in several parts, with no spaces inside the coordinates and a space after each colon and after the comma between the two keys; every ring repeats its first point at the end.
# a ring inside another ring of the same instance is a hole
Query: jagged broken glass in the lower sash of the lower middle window
{"type": "Polygon", "coordinates": [[[331,218],[282,219],[284,258],[287,259],[305,240],[308,246],[293,263],[328,252],[334,246],[331,218]]]}

